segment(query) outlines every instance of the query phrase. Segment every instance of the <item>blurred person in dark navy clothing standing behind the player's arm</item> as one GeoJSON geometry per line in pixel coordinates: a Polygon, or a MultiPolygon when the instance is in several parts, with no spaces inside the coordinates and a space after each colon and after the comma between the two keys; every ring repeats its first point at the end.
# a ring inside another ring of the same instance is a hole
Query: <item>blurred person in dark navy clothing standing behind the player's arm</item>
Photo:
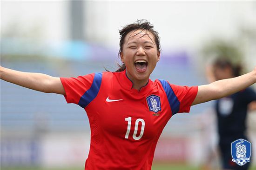
{"type": "MultiPolygon", "coordinates": [[[[240,76],[242,66],[233,64],[225,57],[219,57],[207,69],[209,82],[214,82],[240,76]]],[[[230,96],[216,100],[214,108],[217,116],[218,146],[223,169],[248,170],[250,162],[243,166],[232,162],[230,144],[240,138],[248,140],[246,118],[249,110],[256,110],[256,92],[251,87],[245,88],[230,96]]]]}

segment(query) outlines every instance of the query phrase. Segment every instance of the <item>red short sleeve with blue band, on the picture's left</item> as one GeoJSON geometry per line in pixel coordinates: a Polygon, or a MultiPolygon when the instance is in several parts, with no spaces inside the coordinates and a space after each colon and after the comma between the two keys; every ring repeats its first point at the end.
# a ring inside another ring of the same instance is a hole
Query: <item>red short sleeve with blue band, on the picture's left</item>
{"type": "Polygon", "coordinates": [[[102,73],[93,73],[77,78],[61,78],[67,103],[85,108],[98,94],[102,73]]]}

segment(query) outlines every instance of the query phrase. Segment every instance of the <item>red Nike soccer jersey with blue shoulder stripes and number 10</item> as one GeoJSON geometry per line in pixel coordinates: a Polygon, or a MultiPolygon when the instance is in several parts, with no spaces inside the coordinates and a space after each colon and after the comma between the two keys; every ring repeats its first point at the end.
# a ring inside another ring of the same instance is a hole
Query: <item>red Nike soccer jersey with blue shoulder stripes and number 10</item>
{"type": "Polygon", "coordinates": [[[87,112],[91,144],[85,170],[151,170],[155,146],[168,120],[189,112],[197,86],[149,79],[137,91],[126,72],[61,78],[67,103],[87,112]]]}

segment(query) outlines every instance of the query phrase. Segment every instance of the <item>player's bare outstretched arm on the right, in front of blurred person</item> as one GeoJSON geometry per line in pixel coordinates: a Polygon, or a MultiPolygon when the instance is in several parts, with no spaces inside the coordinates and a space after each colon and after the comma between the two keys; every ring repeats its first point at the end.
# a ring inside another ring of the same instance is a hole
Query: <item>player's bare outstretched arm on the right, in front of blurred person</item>
{"type": "Polygon", "coordinates": [[[256,67],[252,72],[236,78],[215,81],[209,85],[198,86],[198,92],[192,105],[229,96],[256,83],[256,67]]]}

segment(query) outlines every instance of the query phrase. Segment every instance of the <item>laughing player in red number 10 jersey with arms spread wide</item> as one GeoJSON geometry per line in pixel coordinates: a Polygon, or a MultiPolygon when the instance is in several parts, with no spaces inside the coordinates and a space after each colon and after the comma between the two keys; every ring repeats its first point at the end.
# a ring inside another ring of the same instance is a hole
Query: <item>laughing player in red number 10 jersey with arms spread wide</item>
{"type": "Polygon", "coordinates": [[[40,92],[63,94],[87,112],[91,144],[86,170],[150,170],[155,146],[168,120],[191,105],[229,96],[256,82],[256,68],[243,76],[209,85],[178,86],[150,74],[160,60],[160,42],[145,20],[120,31],[116,72],[77,78],[0,68],[1,79],[40,92]]]}

